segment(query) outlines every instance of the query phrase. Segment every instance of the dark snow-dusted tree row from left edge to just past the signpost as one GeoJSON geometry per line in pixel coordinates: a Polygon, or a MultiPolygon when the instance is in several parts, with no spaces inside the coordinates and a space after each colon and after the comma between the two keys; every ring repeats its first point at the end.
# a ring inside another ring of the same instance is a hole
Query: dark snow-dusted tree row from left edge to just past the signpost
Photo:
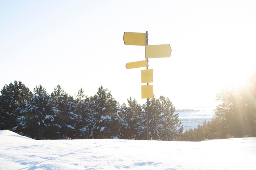
{"type": "MultiPolygon", "coordinates": [[[[0,95],[0,129],[34,139],[147,139],[147,105],[131,97],[120,105],[108,88],[94,96],[79,89],[75,97],[60,85],[49,95],[39,85],[30,91],[22,82],[5,85],[0,95]]],[[[177,140],[183,127],[172,102],[160,96],[150,99],[150,138],[177,140]]]]}

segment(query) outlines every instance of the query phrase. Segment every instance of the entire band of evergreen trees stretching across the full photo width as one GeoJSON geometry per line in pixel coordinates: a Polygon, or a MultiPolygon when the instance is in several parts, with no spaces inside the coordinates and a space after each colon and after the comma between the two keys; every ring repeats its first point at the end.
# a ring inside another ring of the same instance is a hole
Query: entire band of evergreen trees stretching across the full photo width
{"type": "MultiPolygon", "coordinates": [[[[172,102],[149,99],[150,139],[202,141],[256,137],[256,71],[244,86],[223,89],[211,121],[186,130],[172,102]]],[[[108,88],[94,96],[67,94],[60,85],[48,94],[41,85],[30,91],[22,82],[5,85],[0,94],[0,129],[33,139],[147,139],[147,104],[129,97],[119,104],[108,88]]]]}

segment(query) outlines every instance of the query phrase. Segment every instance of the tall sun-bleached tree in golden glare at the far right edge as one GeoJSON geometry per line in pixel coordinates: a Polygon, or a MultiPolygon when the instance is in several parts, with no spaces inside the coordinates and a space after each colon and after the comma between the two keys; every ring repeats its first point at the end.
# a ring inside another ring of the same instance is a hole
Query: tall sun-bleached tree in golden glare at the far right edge
{"type": "MultiPolygon", "coordinates": [[[[256,76],[254,77],[256,79],[256,76]]],[[[214,122],[220,123],[219,138],[256,136],[256,96],[253,78],[240,88],[224,89],[217,95],[214,122]]]]}

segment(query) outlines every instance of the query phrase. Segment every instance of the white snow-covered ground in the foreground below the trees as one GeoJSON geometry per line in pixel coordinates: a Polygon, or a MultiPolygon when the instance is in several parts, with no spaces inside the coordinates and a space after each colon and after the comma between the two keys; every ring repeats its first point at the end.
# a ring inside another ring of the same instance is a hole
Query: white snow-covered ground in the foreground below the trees
{"type": "Polygon", "coordinates": [[[1,170],[255,170],[256,138],[34,140],[0,130],[1,170]]]}

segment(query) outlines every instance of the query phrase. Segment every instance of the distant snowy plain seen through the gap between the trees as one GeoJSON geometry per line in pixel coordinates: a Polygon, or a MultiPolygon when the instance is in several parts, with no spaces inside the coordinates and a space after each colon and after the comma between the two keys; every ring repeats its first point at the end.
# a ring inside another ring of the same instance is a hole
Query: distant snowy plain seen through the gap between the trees
{"type": "Polygon", "coordinates": [[[183,132],[185,132],[186,130],[197,128],[198,124],[202,125],[204,121],[210,121],[215,111],[175,112],[175,114],[176,113],[179,113],[179,119],[184,128],[183,132]]]}

